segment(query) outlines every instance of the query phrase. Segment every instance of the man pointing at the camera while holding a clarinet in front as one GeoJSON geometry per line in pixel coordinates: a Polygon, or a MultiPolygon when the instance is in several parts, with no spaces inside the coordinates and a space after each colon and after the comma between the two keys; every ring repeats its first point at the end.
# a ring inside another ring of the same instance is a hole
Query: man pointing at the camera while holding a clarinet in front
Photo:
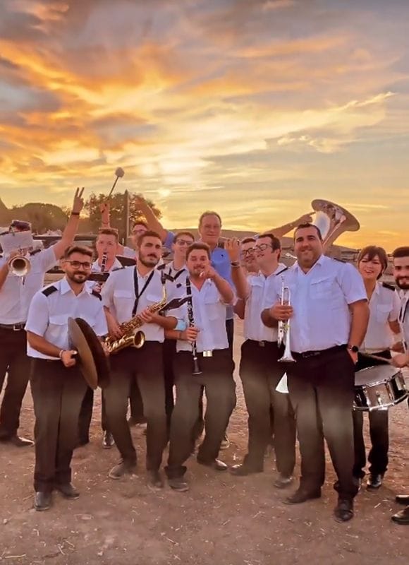
{"type": "Polygon", "coordinates": [[[171,419],[169,460],[166,467],[171,488],[188,490],[183,463],[191,452],[192,432],[199,412],[198,402],[204,387],[207,398],[205,436],[197,453],[197,463],[217,471],[227,465],[217,459],[228,419],[236,404],[233,363],[228,352],[226,304],[233,302],[233,290],[210,264],[209,246],[195,243],[188,249],[185,279],[189,305],[177,311],[189,323],[185,331],[166,331],[177,341],[174,359],[176,405],[171,419]],[[196,343],[200,374],[193,374],[193,349],[196,343]]]}

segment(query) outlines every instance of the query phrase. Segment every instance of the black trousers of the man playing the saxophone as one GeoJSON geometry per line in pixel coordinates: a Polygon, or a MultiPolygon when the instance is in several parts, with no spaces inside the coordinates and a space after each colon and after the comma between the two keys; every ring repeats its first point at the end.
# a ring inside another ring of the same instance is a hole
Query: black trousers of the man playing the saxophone
{"type": "Polygon", "coordinates": [[[126,412],[130,383],[138,381],[142,395],[143,410],[147,420],[148,470],[157,470],[161,465],[166,445],[165,387],[162,344],[146,341],[140,349],[127,347],[111,356],[111,380],[104,388],[108,426],[114,436],[116,447],[126,463],[136,463],[136,451],[130,436],[126,412]]]}

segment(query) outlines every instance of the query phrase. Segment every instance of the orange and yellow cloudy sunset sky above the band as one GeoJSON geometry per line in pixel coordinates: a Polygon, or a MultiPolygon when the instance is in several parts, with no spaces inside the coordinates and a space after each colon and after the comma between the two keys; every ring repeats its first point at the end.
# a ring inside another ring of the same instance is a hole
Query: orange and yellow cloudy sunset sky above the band
{"type": "Polygon", "coordinates": [[[407,0],[1,0],[0,197],[262,230],[327,198],[409,244],[407,0]]]}

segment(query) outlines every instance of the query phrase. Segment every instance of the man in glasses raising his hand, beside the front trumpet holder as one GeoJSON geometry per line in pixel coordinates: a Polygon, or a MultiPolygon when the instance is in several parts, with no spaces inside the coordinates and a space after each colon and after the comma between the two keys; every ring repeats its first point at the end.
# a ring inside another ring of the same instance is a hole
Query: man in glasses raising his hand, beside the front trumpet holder
{"type": "MultiPolygon", "coordinates": [[[[271,304],[276,280],[286,266],[279,263],[281,244],[272,234],[261,234],[257,242],[252,243],[252,250],[260,269],[257,274],[248,275],[243,281],[243,268],[233,268],[236,288],[240,295],[245,296],[245,341],[241,347],[240,379],[248,410],[248,453],[243,463],[233,465],[231,472],[238,476],[262,472],[264,453],[271,439],[272,409],[276,467],[279,471],[274,486],[284,488],[293,480],[295,420],[288,395],[276,391],[285,370],[278,362],[283,347],[277,345],[277,329],[263,326],[260,316],[271,304]],[[242,280],[239,280],[240,276],[242,280]]],[[[234,258],[233,254],[231,256],[234,258]]]]}

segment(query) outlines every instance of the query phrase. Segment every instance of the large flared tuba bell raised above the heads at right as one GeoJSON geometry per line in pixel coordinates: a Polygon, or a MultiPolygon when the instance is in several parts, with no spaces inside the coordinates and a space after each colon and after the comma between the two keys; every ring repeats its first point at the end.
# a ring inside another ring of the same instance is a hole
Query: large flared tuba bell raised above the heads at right
{"type": "Polygon", "coordinates": [[[343,232],[358,232],[360,223],[348,210],[329,200],[313,200],[315,222],[321,232],[324,249],[329,249],[343,232]]]}

